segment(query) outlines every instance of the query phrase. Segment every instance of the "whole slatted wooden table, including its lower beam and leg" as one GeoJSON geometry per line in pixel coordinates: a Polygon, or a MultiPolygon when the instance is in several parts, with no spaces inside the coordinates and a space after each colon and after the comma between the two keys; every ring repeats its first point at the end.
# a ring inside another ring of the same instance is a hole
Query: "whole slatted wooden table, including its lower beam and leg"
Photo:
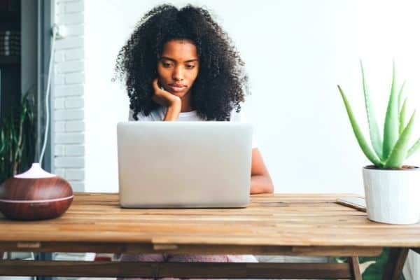
{"type": "Polygon", "coordinates": [[[0,251],[346,256],[349,263],[0,260],[0,275],[150,278],[360,279],[358,255],[393,247],[384,279],[399,279],[420,225],[372,223],[334,195],[253,195],[246,209],[121,209],[118,195],[78,193],[50,221],[0,217],[0,251]]]}

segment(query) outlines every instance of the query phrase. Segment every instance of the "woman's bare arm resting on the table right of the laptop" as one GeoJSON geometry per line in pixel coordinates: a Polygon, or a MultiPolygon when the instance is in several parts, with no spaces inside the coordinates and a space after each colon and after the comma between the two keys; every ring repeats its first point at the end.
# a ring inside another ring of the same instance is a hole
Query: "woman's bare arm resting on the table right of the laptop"
{"type": "Polygon", "coordinates": [[[273,193],[274,186],[267,167],[258,148],[252,149],[251,195],[256,193],[273,193]]]}

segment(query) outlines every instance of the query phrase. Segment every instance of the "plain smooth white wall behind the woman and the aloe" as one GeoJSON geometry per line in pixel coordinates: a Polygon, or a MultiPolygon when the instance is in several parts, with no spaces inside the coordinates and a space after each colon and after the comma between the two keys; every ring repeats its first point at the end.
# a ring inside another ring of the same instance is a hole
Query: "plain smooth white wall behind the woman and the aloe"
{"type": "MultiPolygon", "coordinates": [[[[85,1],[86,191],[118,191],[116,123],[127,119],[128,101],[123,85],[111,83],[115,59],[136,22],[158,3],[85,1]]],[[[381,125],[395,57],[398,84],[407,80],[409,107],[420,108],[419,3],[191,3],[214,12],[246,62],[253,96],[244,109],[255,124],[276,193],[363,193],[361,167],[369,162],[336,85],[366,127],[358,64],[363,59],[381,125]]],[[[420,155],[409,162],[420,165],[420,155]]]]}

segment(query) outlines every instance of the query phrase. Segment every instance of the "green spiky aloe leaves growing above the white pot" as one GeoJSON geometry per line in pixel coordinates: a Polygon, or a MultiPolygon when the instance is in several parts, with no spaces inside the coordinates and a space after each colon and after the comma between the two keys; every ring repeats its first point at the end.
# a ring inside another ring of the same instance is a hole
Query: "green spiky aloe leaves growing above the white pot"
{"type": "Polygon", "coordinates": [[[346,94],[344,94],[342,88],[337,85],[342,96],[344,106],[346,107],[351,127],[353,128],[353,132],[356,135],[360,148],[375,167],[382,169],[400,169],[404,160],[409,158],[409,156],[413,155],[420,148],[420,138],[411,147],[409,146],[409,140],[411,139],[414,128],[416,111],[412,113],[412,116],[406,124],[405,115],[407,110],[407,99],[402,102],[402,92],[405,83],[402,84],[398,92],[395,90],[395,64],[393,64],[391,93],[389,95],[388,107],[386,109],[384,134],[382,138],[379,133],[377,120],[374,116],[374,109],[369,91],[367,90],[365,71],[361,61],[360,68],[362,71],[363,93],[365,96],[370,142],[373,149],[367,143],[362,131],[360,130],[354,113],[351,110],[349,101],[346,98],[346,94]]]}

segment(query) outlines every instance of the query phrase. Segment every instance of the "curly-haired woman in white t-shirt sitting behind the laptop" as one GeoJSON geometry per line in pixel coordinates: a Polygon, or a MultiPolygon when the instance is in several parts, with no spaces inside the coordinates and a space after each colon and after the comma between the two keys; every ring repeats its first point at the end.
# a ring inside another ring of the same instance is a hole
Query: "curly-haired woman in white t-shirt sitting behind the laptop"
{"type": "MultiPolygon", "coordinates": [[[[125,80],[130,120],[241,119],[248,90],[244,62],[228,35],[204,8],[157,6],[140,20],[117,58],[125,80]]],[[[253,143],[251,194],[273,184],[253,143]]],[[[240,262],[241,255],[123,254],[121,260],[240,262]]]]}

